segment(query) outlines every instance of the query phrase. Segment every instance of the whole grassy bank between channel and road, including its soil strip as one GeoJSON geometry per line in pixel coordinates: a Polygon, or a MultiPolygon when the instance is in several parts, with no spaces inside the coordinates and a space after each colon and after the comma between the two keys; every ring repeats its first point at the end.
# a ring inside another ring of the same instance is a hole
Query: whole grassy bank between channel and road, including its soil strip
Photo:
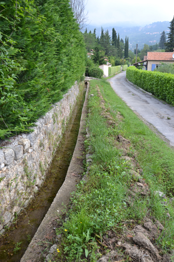
{"type": "Polygon", "coordinates": [[[85,145],[91,160],[66,221],[58,221],[57,234],[62,237],[55,261],[97,261],[111,250],[116,250],[117,261],[138,261],[125,243],[135,246],[137,226],[161,222],[164,230],[159,231],[158,224],[157,234],[148,235],[156,251],[138,246],[149,252],[151,261],[160,261],[159,256],[164,259],[174,247],[173,204],[156,192],[173,194],[173,150],[138,119],[107,81],[91,80],[90,85],[90,136],[85,145]]]}

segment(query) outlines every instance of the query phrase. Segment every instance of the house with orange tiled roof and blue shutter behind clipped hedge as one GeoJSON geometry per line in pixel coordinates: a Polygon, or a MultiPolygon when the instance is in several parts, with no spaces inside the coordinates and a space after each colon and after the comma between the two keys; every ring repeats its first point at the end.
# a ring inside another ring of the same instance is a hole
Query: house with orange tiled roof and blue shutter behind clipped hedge
{"type": "Polygon", "coordinates": [[[154,71],[162,62],[174,63],[173,54],[174,52],[147,52],[147,56],[144,56],[144,60],[133,63],[133,65],[135,65],[135,67],[144,65],[145,70],[154,71]]]}

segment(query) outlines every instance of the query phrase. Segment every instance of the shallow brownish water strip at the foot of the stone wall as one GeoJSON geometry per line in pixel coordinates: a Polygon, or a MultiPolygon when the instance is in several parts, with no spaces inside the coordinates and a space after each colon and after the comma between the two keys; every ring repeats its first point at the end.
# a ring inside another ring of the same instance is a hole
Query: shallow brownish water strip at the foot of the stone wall
{"type": "Polygon", "coordinates": [[[62,186],[76,146],[80,119],[85,99],[81,93],[63,135],[61,145],[46,175],[46,180],[35,200],[17,218],[4,237],[0,238],[0,261],[19,262],[32,237],[62,186]],[[17,243],[20,243],[17,244],[17,243]],[[18,249],[20,248],[20,250],[18,249]]]}

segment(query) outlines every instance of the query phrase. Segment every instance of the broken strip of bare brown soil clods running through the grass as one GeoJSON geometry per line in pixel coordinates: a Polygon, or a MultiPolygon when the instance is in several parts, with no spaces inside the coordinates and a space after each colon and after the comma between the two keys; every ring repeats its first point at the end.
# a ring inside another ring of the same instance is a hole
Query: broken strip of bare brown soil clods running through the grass
{"type": "MultiPolygon", "coordinates": [[[[116,121],[109,114],[105,107],[105,101],[96,85],[98,97],[101,98],[101,115],[112,121],[107,121],[108,125],[114,126],[116,121]]],[[[117,114],[117,119],[121,121],[122,117],[117,114]]],[[[127,204],[133,206],[135,197],[146,198],[150,194],[150,187],[143,179],[143,171],[136,161],[136,156],[130,157],[127,155],[131,143],[129,140],[118,135],[116,138],[116,146],[124,152],[122,159],[129,164],[130,176],[132,184],[127,192],[127,204]]],[[[101,245],[100,253],[104,253],[104,247],[110,250],[104,254],[97,262],[121,262],[121,261],[136,261],[136,262],[169,262],[170,255],[163,254],[163,251],[157,245],[157,239],[161,232],[165,231],[163,225],[152,216],[145,216],[143,221],[137,223],[136,220],[127,221],[123,224],[123,229],[118,232],[117,228],[108,231],[103,237],[98,239],[101,245]]]]}

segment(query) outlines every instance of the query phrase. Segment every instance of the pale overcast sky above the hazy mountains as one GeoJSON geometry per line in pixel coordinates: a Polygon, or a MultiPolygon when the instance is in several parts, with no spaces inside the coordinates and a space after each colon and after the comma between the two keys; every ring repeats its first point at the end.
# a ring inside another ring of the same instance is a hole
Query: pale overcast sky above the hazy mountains
{"type": "Polygon", "coordinates": [[[165,0],[160,4],[160,0],[88,0],[86,11],[90,25],[117,26],[126,21],[130,26],[144,26],[157,21],[171,21],[174,1],[165,0]]]}

